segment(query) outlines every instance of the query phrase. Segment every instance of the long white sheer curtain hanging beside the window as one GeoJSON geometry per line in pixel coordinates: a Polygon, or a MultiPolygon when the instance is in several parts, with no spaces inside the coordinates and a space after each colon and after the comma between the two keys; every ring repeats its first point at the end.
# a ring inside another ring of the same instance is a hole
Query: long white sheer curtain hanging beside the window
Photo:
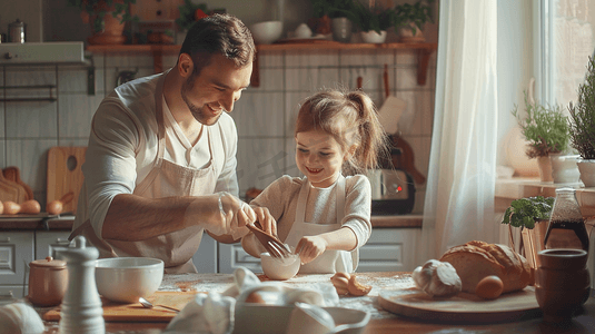
{"type": "Polygon", "coordinates": [[[496,2],[440,1],[436,107],[417,263],[469,240],[498,240],[496,2]]]}

